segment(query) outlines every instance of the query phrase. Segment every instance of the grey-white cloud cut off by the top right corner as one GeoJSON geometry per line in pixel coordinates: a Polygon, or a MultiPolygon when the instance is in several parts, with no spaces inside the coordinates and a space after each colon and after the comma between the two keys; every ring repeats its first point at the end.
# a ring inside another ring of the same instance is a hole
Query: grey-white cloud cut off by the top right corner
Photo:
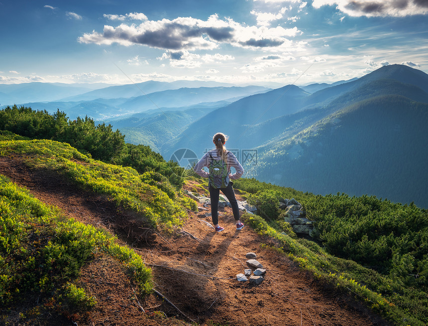
{"type": "Polygon", "coordinates": [[[314,0],[312,5],[336,5],[350,16],[394,16],[404,17],[428,13],[427,0],[314,0]]]}

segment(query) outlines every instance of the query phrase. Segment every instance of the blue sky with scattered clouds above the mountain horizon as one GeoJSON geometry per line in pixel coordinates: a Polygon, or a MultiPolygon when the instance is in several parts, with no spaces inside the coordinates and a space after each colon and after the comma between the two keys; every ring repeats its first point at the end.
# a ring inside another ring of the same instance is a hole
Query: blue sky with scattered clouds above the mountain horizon
{"type": "Polygon", "coordinates": [[[428,73],[427,0],[0,0],[0,19],[1,84],[428,73]]]}

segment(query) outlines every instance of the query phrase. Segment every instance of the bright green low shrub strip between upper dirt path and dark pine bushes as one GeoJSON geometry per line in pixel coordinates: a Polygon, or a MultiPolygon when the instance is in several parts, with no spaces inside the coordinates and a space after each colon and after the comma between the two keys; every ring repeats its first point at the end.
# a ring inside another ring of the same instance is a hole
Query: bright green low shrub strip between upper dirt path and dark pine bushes
{"type": "Polygon", "coordinates": [[[182,225],[186,209],[196,209],[165,176],[96,161],[65,143],[6,140],[0,143],[0,155],[20,155],[30,167],[58,171],[86,190],[110,196],[118,207],[136,212],[142,224],[166,231],[182,225]]]}

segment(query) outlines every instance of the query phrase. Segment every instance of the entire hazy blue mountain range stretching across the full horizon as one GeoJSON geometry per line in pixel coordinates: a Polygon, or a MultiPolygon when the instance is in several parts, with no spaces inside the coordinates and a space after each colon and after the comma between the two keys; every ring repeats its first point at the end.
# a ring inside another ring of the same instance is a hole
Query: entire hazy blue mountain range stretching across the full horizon
{"type": "Polygon", "coordinates": [[[40,84],[0,85],[1,105],[19,97],[28,102],[14,103],[33,109],[88,115],[166,160],[181,148],[201,157],[221,131],[246,177],[428,208],[428,75],[408,66],[273,90],[187,81],[93,89],[40,84]]]}

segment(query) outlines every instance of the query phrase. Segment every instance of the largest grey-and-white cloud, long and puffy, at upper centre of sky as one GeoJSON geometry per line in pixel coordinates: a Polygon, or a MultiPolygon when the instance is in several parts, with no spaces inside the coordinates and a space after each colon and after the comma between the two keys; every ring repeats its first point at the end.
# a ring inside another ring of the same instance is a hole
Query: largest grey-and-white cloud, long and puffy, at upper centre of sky
{"type": "Polygon", "coordinates": [[[218,19],[214,14],[208,20],[178,17],[173,20],[147,20],[139,25],[105,25],[102,33],[94,30],[92,33],[85,33],[78,40],[81,43],[100,45],[139,44],[171,51],[212,50],[223,43],[234,47],[272,49],[287,42],[287,37],[299,34],[302,34],[302,31],[297,27],[286,29],[280,26],[247,26],[231,18],[218,19]]]}

